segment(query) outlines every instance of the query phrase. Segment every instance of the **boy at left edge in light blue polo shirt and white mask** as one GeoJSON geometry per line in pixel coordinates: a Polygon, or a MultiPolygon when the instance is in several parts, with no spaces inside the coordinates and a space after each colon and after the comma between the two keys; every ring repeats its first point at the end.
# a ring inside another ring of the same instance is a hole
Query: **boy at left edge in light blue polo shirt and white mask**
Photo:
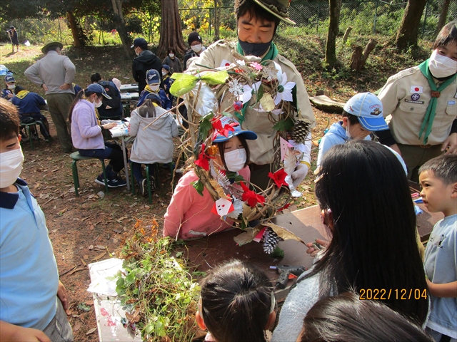
{"type": "Polygon", "coordinates": [[[19,115],[0,98],[0,341],[73,341],[46,219],[26,182],[19,115]]]}

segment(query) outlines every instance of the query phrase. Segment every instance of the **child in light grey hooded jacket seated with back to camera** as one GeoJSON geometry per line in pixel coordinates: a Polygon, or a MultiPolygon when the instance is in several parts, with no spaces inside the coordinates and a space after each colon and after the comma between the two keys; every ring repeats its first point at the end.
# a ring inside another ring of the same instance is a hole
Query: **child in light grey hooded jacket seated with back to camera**
{"type": "MultiPolygon", "coordinates": [[[[131,113],[129,135],[136,139],[131,147],[131,167],[141,195],[147,195],[147,180],[141,172],[141,164],[168,164],[173,160],[173,138],[178,136],[178,125],[172,113],[160,107],[159,95],[149,93],[146,100],[131,113]]],[[[154,190],[154,177],[151,177],[154,190]]]]}

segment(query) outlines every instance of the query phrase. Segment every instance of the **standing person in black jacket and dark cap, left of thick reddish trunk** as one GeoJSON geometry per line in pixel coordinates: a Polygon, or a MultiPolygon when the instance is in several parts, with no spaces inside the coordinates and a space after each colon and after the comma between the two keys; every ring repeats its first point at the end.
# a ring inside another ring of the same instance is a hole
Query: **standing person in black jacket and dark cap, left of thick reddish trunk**
{"type": "MultiPolygon", "coordinates": [[[[132,64],[132,73],[135,81],[138,82],[138,91],[141,93],[146,87],[146,72],[149,69],[162,70],[162,62],[152,51],[148,50],[148,42],[144,38],[136,38],[131,46],[136,53],[132,64]]],[[[162,83],[162,76],[160,82],[162,83]]]]}

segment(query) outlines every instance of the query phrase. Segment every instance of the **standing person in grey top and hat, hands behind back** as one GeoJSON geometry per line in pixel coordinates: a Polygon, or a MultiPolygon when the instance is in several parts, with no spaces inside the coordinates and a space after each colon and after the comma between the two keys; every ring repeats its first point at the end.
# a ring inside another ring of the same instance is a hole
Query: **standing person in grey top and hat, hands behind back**
{"type": "Polygon", "coordinates": [[[73,145],[69,109],[74,101],[73,81],[76,68],[70,58],[62,55],[63,48],[58,41],[47,43],[41,48],[44,58],[29,66],[24,75],[45,91],[57,138],[64,152],[71,152],[73,145]]]}

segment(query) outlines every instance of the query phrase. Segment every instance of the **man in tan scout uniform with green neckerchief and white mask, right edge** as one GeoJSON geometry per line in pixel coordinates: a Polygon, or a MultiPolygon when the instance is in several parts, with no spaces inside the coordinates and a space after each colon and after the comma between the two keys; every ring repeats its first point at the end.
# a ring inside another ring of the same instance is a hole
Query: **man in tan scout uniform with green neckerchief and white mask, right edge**
{"type": "Polygon", "coordinates": [[[408,166],[408,178],[418,180],[424,162],[441,155],[457,154],[457,21],[443,27],[428,60],[388,79],[378,97],[393,139],[408,166]]]}

